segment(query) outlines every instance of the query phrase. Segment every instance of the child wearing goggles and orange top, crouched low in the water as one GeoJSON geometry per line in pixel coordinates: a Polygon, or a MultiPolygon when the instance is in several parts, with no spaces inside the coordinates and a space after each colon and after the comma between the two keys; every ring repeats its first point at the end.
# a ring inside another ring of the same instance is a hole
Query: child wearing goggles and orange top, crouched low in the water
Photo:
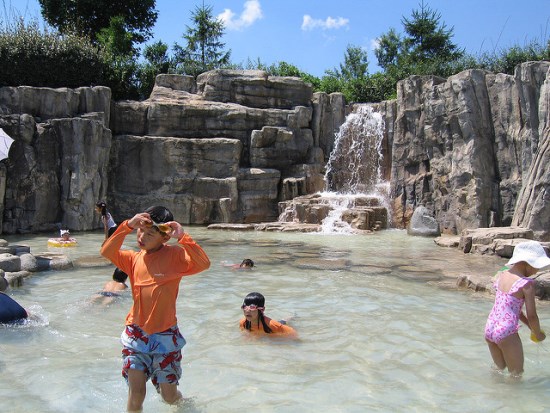
{"type": "Polygon", "coordinates": [[[248,294],[241,306],[244,318],[240,321],[241,330],[254,334],[273,334],[277,336],[297,337],[296,330],[286,325],[285,320],[275,321],[264,315],[265,298],[262,294],[248,294]]]}

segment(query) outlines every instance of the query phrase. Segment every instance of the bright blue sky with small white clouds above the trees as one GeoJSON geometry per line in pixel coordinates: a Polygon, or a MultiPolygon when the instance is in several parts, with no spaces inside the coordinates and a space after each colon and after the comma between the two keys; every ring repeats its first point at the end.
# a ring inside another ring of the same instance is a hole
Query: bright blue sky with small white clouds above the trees
{"type": "MultiPolygon", "coordinates": [[[[38,0],[0,0],[26,17],[40,18],[38,0]]],[[[182,34],[191,11],[201,0],[157,0],[154,39],[184,45],[182,34]]],[[[369,72],[379,70],[373,48],[390,28],[403,33],[402,17],[410,17],[420,0],[205,0],[226,23],[222,41],[232,61],[247,59],[267,65],[286,61],[322,76],[344,60],[348,45],[369,54],[369,72]]],[[[425,0],[454,28],[453,41],[468,53],[498,51],[532,40],[550,39],[549,0],[425,0]]],[[[1,15],[1,13],[0,13],[1,15]]]]}

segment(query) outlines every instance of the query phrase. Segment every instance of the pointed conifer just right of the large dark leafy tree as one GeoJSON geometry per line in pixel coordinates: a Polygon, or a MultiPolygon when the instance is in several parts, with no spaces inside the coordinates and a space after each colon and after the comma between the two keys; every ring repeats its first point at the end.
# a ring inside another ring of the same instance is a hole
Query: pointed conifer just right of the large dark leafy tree
{"type": "Polygon", "coordinates": [[[224,24],[212,14],[212,6],[197,6],[191,13],[193,26],[187,26],[183,38],[186,47],[174,45],[176,71],[192,76],[213,69],[229,66],[231,50],[224,51],[225,43],[220,39],[224,34],[224,24]]]}

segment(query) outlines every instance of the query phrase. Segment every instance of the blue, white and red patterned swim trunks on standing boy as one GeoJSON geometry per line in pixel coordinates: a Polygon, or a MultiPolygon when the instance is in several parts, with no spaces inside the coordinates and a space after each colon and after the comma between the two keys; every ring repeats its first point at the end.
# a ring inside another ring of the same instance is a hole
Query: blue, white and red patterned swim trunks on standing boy
{"type": "Polygon", "coordinates": [[[160,383],[178,384],[181,378],[181,349],[185,339],[177,326],[147,335],[136,325],[126,326],[121,335],[122,376],[128,382],[128,370],[145,373],[160,391],[160,383]]]}

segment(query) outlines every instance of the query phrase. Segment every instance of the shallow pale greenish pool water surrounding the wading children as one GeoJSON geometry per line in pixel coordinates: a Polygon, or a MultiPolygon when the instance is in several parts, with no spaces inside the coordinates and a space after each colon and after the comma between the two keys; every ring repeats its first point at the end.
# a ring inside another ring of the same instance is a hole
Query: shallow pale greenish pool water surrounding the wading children
{"type": "MultiPolygon", "coordinates": [[[[542,412],[550,405],[549,345],[530,342],[522,329],[526,373],[521,383],[505,383],[491,373],[483,340],[492,297],[434,285],[463,272],[494,273],[502,259],[402,231],[190,232],[212,267],[184,279],[178,300],[188,400],[167,406],[148,385],[146,412],[542,412]],[[254,260],[253,270],[221,265],[243,258],[254,260]],[[251,291],[266,296],[267,315],[294,316],[298,341],[239,331],[240,304],[251,291]]],[[[131,297],[90,302],[112,267],[98,256],[102,234],[76,236],[79,246],[68,253],[84,257],[79,267],[34,274],[9,291],[37,316],[0,326],[0,399],[10,412],[125,409],[119,336],[131,297]]],[[[47,249],[47,237],[8,240],[34,253],[47,249]]],[[[544,327],[550,307],[538,309],[544,327]]]]}

